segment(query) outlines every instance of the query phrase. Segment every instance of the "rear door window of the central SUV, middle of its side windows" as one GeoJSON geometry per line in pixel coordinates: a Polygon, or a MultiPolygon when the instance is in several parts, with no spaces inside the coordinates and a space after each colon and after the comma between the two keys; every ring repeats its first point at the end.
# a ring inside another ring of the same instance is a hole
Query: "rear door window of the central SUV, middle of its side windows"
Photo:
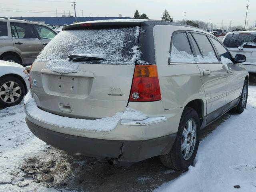
{"type": "Polygon", "coordinates": [[[205,34],[192,33],[196,40],[202,56],[197,55],[197,62],[219,62],[214,49],[205,34]]]}

